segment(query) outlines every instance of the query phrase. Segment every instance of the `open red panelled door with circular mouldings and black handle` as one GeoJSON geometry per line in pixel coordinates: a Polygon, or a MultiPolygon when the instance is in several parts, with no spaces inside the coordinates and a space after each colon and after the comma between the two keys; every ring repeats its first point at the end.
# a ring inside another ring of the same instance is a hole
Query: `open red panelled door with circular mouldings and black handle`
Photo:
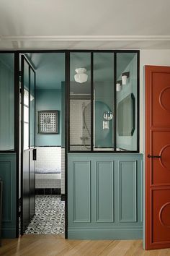
{"type": "Polygon", "coordinates": [[[146,249],[170,247],[170,67],[146,66],[146,249]]]}

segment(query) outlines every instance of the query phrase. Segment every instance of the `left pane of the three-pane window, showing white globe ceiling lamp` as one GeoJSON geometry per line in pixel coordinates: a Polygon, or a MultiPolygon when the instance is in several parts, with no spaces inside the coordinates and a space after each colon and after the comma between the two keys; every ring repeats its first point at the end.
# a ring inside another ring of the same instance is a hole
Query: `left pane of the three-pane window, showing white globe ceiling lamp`
{"type": "Polygon", "coordinates": [[[91,54],[70,57],[70,150],[91,150],[91,54]]]}

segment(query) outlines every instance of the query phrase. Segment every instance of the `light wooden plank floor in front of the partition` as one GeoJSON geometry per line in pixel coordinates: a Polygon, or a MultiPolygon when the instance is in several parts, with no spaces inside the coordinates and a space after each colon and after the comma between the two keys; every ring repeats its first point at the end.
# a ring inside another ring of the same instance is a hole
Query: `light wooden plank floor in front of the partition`
{"type": "Polygon", "coordinates": [[[59,235],[24,235],[19,239],[4,239],[0,255],[112,255],[166,256],[170,249],[145,251],[141,240],[65,240],[59,235]]]}

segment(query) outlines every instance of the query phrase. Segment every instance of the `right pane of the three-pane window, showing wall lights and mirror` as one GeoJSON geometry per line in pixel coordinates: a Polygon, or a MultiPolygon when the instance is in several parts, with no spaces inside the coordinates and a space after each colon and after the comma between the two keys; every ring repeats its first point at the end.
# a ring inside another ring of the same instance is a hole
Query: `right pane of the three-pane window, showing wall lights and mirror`
{"type": "Polygon", "coordinates": [[[137,54],[117,54],[117,150],[137,150],[137,54]]]}

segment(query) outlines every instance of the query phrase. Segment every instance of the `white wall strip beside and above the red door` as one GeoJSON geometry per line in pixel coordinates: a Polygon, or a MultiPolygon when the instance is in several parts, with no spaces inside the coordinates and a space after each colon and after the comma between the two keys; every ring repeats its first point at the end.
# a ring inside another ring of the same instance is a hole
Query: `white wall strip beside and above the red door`
{"type": "Polygon", "coordinates": [[[145,146],[145,65],[170,66],[170,50],[140,50],[140,153],[145,146]]]}

